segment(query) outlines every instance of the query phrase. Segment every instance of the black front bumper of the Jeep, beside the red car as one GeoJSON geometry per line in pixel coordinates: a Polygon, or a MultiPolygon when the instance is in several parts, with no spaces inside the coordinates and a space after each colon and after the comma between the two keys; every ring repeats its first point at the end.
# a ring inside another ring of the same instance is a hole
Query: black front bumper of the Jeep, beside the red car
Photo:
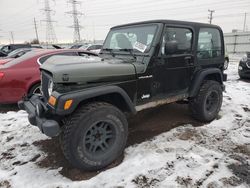
{"type": "Polygon", "coordinates": [[[60,126],[57,121],[46,117],[48,109],[42,100],[42,97],[33,95],[29,99],[18,102],[18,107],[28,113],[30,124],[37,126],[42,133],[49,137],[59,135],[60,126]]]}

